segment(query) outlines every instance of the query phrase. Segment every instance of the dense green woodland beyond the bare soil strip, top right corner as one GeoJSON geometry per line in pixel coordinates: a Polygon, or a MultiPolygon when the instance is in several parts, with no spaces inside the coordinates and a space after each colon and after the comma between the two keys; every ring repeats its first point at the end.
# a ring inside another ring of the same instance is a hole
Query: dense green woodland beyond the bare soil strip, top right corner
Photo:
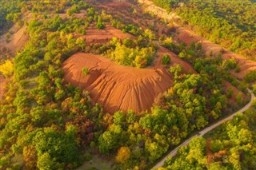
{"type": "Polygon", "coordinates": [[[182,17],[200,36],[255,60],[255,1],[152,0],[182,17]]]}

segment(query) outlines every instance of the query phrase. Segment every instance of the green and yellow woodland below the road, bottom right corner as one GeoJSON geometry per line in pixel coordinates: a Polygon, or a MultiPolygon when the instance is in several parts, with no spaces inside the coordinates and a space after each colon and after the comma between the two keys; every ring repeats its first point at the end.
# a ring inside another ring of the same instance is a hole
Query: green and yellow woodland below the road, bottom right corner
{"type": "Polygon", "coordinates": [[[195,137],[166,160],[162,169],[254,169],[256,167],[256,103],[245,113],[214,129],[205,137],[195,137]]]}

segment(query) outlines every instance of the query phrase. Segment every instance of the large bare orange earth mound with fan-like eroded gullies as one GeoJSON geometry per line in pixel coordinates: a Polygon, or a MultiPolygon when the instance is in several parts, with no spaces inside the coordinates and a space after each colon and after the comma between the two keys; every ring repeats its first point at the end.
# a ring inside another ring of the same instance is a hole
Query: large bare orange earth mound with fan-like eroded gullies
{"type": "Polygon", "coordinates": [[[76,53],[62,65],[64,79],[90,92],[94,102],[107,112],[150,110],[154,98],[170,88],[173,81],[166,69],[137,69],[114,64],[90,53],[76,53]],[[87,75],[82,68],[90,71],[87,75]]]}

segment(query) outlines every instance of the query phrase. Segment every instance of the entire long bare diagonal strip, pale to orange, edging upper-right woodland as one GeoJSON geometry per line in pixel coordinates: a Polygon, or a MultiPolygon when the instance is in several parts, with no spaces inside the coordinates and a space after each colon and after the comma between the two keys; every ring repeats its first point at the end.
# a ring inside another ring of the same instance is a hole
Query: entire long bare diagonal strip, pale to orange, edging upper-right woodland
{"type": "MultiPolygon", "coordinates": [[[[186,42],[186,45],[190,45],[191,42],[196,43],[202,43],[202,48],[206,51],[206,53],[209,55],[212,53],[213,56],[217,56],[219,53],[222,53],[222,58],[227,60],[230,58],[234,58],[238,65],[240,66],[240,71],[238,73],[232,72],[234,76],[242,79],[247,73],[250,73],[250,71],[256,69],[256,62],[251,61],[250,59],[246,59],[246,57],[238,55],[237,53],[231,52],[229,49],[223,48],[221,45],[218,45],[214,42],[210,42],[206,38],[200,37],[198,34],[194,33],[193,30],[189,30],[186,27],[182,27],[181,24],[178,24],[181,22],[181,18],[178,17],[177,14],[174,12],[168,14],[166,10],[160,10],[161,14],[158,13],[159,7],[154,5],[153,2],[150,0],[143,0],[138,1],[142,4],[144,10],[148,13],[153,13],[158,16],[158,18],[164,18],[168,22],[174,22],[174,28],[177,30],[176,34],[174,34],[174,40],[186,42]]],[[[161,9],[161,8],[160,8],[161,9]]],[[[254,58],[254,53],[252,54],[252,58],[254,58]]]]}

